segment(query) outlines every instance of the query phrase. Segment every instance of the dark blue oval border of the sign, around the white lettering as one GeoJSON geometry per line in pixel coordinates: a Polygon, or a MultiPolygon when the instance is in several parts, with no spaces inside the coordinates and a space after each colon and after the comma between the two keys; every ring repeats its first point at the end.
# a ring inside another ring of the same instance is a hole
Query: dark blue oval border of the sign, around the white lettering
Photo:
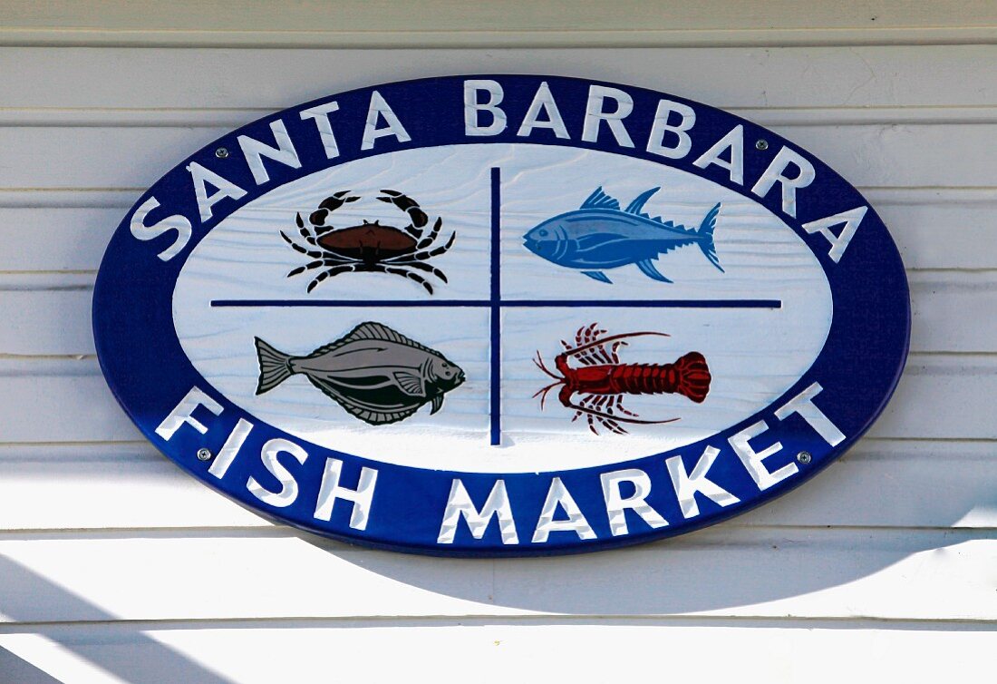
{"type": "Polygon", "coordinates": [[[772,131],[728,112],[643,88],[557,76],[474,75],[380,84],[338,93],[264,117],[222,136],[166,173],[143,194],[136,207],[154,196],[161,207],[150,215],[150,223],[168,215],[182,215],[194,228],[182,253],[164,262],[157,258],[157,254],[170,244],[170,239],[137,240],[130,229],[133,209],[108,246],[94,290],[93,323],[101,367],[115,396],[153,444],[201,481],[265,515],[350,543],[448,556],[543,555],[618,547],[705,527],[772,500],[827,467],[868,429],[882,411],[906,360],[910,335],[907,281],[897,249],[879,217],[871,209],[867,212],[847,247],[846,255],[837,264],[829,257],[828,240],[820,234],[808,234],[802,228],[805,223],[867,206],[861,195],[820,160],[772,131]],[[565,125],[569,131],[575,132],[581,130],[581,117],[592,85],[619,88],[633,98],[633,113],[627,119],[627,127],[632,132],[649,131],[658,101],[663,98],[672,100],[696,111],[693,147],[682,160],[670,160],[647,152],[642,145],[644,141],[636,136],[633,148],[621,148],[608,135],[588,143],[579,141],[577,136],[572,140],[561,140],[549,130],[538,130],[525,140],[516,137],[515,126],[508,126],[495,136],[469,137],[465,133],[464,84],[470,79],[498,81],[504,92],[500,106],[509,121],[513,122],[522,120],[537,87],[546,81],[556,97],[565,125]],[[364,118],[375,90],[399,113],[411,134],[411,142],[402,143],[394,137],[385,137],[378,140],[374,149],[361,151],[364,118]],[[314,122],[302,121],[297,114],[303,109],[330,101],[339,104],[335,121],[340,156],[332,162],[326,158],[319,143],[314,122]],[[278,163],[267,164],[270,180],[257,186],[239,155],[232,154],[227,159],[215,156],[218,148],[237,151],[236,137],[240,135],[272,141],[273,132],[269,124],[277,119],[283,121],[295,142],[301,161],[299,169],[278,163]],[[732,183],[728,172],[717,166],[700,169],[691,164],[691,160],[702,155],[738,125],[744,127],[746,141],[743,186],[732,183]],[[767,149],[757,149],[754,145],[757,140],[765,140],[767,149]],[[173,287],[190,252],[227,215],[277,186],[364,157],[442,145],[516,142],[601,150],[664,164],[729,188],[752,202],[762,204],[783,219],[817,256],[831,286],[831,331],[812,367],[765,409],[708,439],[679,449],[610,466],[493,474],[394,465],[305,442],[262,422],[232,403],[197,372],[183,353],[173,329],[173,287]],[[802,191],[802,195],[806,193],[806,201],[799,203],[799,216],[795,218],[782,212],[778,189],[763,198],[750,192],[754,182],[784,146],[806,158],[817,172],[814,185],[802,191]],[[218,203],[214,207],[214,216],[202,223],[190,176],[185,170],[191,162],[222,175],[246,189],[247,194],[239,200],[226,199],[218,203]],[[832,447],[800,415],[792,415],[785,420],[775,416],[778,407],[815,381],[823,387],[819,395],[822,409],[845,435],[843,441],[832,447]],[[199,408],[194,417],[208,425],[206,433],[201,434],[187,426],[178,429],[166,441],[157,434],[156,428],[192,386],[202,389],[223,410],[215,415],[206,408],[199,408]],[[196,454],[200,448],[217,453],[239,418],[249,420],[254,428],[240,450],[242,455],[219,480],[207,473],[210,462],[199,460],[196,454]],[[765,420],[770,428],[758,438],[759,450],[777,440],[783,445],[781,451],[766,460],[769,469],[776,470],[790,462],[796,463],[800,469],[798,474],[764,491],[760,491],[747,476],[728,442],[731,435],[759,420],[765,420]],[[275,482],[258,458],[262,444],[275,437],[299,443],[309,453],[308,459],[301,465],[288,458],[300,493],[285,508],[271,508],[261,503],[245,486],[250,476],[264,485],[275,482]],[[700,514],[685,519],[666,472],[665,459],[681,455],[689,470],[708,445],[720,450],[709,472],[710,479],[741,501],[721,507],[701,496],[697,498],[700,514]],[[812,454],[809,463],[797,462],[797,454],[803,451],[812,454]],[[257,457],[248,457],[247,454],[257,454],[257,457]],[[328,522],[313,517],[317,489],[327,457],[343,461],[340,485],[344,487],[357,486],[362,467],[378,470],[376,495],[366,529],[360,531],[350,527],[351,505],[336,505],[328,522]],[[611,534],[600,474],[624,468],[639,468],[651,477],[653,486],[647,503],[669,521],[668,526],[652,529],[639,516],[628,511],[626,516],[630,532],[621,536],[611,534]],[[595,531],[596,539],[581,540],[571,532],[555,532],[546,543],[530,542],[533,525],[555,476],[560,477],[571,492],[595,531]],[[463,481],[479,507],[496,481],[504,480],[518,527],[518,544],[502,543],[496,520],[491,521],[482,539],[474,538],[468,526],[461,523],[453,543],[437,543],[444,508],[455,478],[463,481]]]}

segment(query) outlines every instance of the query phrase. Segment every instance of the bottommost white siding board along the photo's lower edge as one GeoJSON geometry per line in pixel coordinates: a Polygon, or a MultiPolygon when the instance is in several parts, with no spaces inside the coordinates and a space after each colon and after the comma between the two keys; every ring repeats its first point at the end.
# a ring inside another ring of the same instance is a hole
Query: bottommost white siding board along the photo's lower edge
{"type": "Polygon", "coordinates": [[[700,681],[707,674],[715,682],[823,684],[851,680],[859,663],[863,681],[928,682],[949,678],[953,662],[964,672],[985,672],[992,661],[993,634],[971,625],[718,622],[57,625],[2,634],[0,648],[24,654],[58,681],[84,681],[79,674],[86,666],[53,662],[52,647],[38,644],[42,639],[123,681],[157,681],[157,674],[169,672],[172,681],[190,684],[288,681],[289,663],[301,673],[334,669],[337,680],[350,682],[410,681],[418,672],[449,684],[474,672],[476,682],[504,684],[540,673],[538,663],[552,654],[564,656],[557,658],[557,679],[564,682],[641,681],[666,665],[669,678],[678,681],[700,681]],[[385,657],[389,650],[391,657],[385,657]]]}

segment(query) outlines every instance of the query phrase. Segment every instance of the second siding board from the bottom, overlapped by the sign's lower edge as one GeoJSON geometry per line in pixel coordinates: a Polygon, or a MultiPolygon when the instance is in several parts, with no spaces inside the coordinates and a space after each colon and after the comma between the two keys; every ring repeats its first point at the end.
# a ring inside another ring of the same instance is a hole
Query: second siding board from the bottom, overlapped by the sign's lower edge
{"type": "Polygon", "coordinates": [[[0,564],[2,612],[14,622],[536,612],[982,620],[997,609],[997,544],[979,530],[713,529],[613,553],[497,561],[297,536],[4,538],[0,564]]]}

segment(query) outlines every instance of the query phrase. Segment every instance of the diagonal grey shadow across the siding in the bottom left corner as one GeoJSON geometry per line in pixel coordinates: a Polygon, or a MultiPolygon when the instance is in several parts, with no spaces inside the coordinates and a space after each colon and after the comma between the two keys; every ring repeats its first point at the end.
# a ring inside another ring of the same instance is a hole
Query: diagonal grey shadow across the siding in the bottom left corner
{"type": "MultiPolygon", "coordinates": [[[[55,642],[73,656],[89,661],[98,668],[130,684],[162,684],[170,682],[191,682],[196,684],[232,684],[231,680],[218,676],[205,669],[183,654],[171,649],[156,639],[143,634],[139,629],[123,632],[121,629],[105,634],[102,622],[118,618],[93,605],[57,584],[32,572],[20,563],[0,555],[0,577],[3,586],[31,587],[30,592],[4,592],[0,595],[0,613],[9,619],[37,620],[38,605],[66,607],[77,619],[94,621],[98,625],[81,635],[80,630],[60,629],[58,626],[24,626],[17,631],[40,637],[40,641],[55,642]],[[115,648],[108,648],[113,642],[115,648]],[[141,652],[142,657],[135,657],[141,652]],[[165,675],[164,673],[168,673],[165,675]],[[168,679],[165,680],[164,676],[168,679]]],[[[36,644],[37,645],[37,644],[36,644]]],[[[37,649],[35,649],[37,650],[37,649]]],[[[0,647],[0,684],[53,684],[58,679],[38,669],[47,660],[29,664],[9,650],[0,647]]]]}

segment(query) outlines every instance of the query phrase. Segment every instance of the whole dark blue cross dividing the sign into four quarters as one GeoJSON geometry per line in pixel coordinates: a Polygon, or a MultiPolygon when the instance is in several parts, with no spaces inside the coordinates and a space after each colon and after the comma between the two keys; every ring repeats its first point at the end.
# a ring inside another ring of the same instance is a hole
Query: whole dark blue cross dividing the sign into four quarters
{"type": "Polygon", "coordinates": [[[492,169],[491,284],[488,300],[212,300],[211,307],[487,307],[490,309],[490,401],[489,436],[493,446],[501,442],[501,317],[503,307],[542,309],[781,309],[781,300],[502,300],[501,298],[501,170],[492,169]]]}

